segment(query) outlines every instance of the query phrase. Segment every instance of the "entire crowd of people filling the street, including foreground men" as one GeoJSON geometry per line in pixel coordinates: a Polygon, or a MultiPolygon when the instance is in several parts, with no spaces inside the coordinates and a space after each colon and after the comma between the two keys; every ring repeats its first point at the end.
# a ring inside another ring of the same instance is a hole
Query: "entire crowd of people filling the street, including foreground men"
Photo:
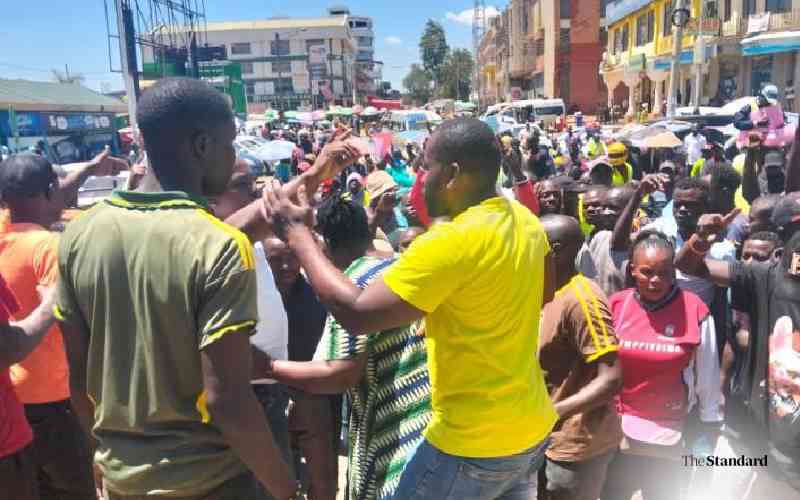
{"type": "Polygon", "coordinates": [[[794,146],[336,126],[262,185],[207,84],[137,122],[66,223],[124,160],[0,164],[0,497],[800,498],[794,146]]]}

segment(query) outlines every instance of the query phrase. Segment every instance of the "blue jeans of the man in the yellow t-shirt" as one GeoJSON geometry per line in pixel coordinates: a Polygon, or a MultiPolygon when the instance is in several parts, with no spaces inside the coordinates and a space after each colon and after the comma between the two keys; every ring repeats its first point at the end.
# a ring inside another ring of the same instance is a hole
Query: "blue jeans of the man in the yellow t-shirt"
{"type": "Polygon", "coordinates": [[[466,458],[423,440],[400,478],[394,500],[535,500],[549,439],[518,455],[466,458]]]}

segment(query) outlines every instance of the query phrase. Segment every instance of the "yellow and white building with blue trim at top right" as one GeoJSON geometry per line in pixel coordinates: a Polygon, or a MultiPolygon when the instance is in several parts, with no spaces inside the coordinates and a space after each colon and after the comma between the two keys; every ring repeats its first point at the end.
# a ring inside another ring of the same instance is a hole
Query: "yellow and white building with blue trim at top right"
{"type": "MultiPolygon", "coordinates": [[[[633,114],[644,105],[665,113],[674,46],[671,19],[675,0],[620,0],[606,10],[608,43],[600,73],[607,103],[633,114]]],[[[700,105],[721,106],[752,95],[766,83],[782,92],[784,105],[800,101],[785,90],[800,78],[800,0],[687,0],[691,16],[701,5],[711,30],[700,39],[689,30],[681,43],[676,95],[691,104],[696,63],[702,71],[700,105]],[[701,53],[701,49],[702,53],[701,53]]]]}

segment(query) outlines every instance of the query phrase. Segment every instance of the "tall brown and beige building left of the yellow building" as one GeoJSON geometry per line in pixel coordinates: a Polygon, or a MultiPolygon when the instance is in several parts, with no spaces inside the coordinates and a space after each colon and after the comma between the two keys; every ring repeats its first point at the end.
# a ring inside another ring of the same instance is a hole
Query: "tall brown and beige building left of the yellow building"
{"type": "Polygon", "coordinates": [[[560,97],[568,109],[595,112],[605,94],[597,74],[603,7],[604,0],[511,0],[488,22],[477,54],[481,105],[560,97]]]}

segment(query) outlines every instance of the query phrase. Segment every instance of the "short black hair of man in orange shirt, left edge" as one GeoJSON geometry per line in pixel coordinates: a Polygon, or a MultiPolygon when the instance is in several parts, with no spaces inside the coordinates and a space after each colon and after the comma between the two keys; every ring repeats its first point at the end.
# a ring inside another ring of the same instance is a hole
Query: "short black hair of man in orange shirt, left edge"
{"type": "Polygon", "coordinates": [[[0,199],[48,195],[58,175],[44,156],[19,153],[0,163],[0,199]]]}

